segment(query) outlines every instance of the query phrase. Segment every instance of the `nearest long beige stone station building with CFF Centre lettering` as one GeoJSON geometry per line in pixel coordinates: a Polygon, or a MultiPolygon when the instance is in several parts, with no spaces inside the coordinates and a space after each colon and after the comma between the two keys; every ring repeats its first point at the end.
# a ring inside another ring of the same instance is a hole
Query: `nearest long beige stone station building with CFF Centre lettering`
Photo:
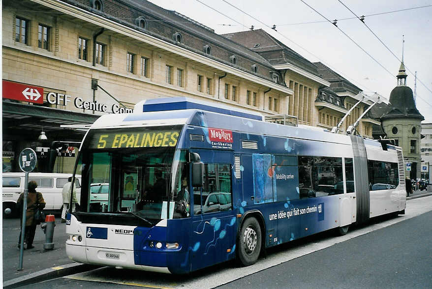
{"type": "MultiPolygon", "coordinates": [[[[19,170],[24,147],[37,149],[36,170],[46,171],[52,142],[79,142],[76,128],[143,99],[187,96],[276,115],[294,94],[257,53],[142,0],[4,0],[2,60],[3,171],[19,170]]],[[[72,169],[75,154],[64,149],[55,172],[72,169]]]]}

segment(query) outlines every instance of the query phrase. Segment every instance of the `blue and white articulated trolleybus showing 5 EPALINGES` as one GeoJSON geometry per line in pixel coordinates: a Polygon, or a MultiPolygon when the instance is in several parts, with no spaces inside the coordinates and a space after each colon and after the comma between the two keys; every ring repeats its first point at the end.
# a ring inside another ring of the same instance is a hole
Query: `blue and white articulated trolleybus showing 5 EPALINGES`
{"type": "Polygon", "coordinates": [[[184,97],[140,111],[101,116],[83,140],[72,260],[176,274],[247,266],[266,248],[404,213],[400,147],[184,97]]]}

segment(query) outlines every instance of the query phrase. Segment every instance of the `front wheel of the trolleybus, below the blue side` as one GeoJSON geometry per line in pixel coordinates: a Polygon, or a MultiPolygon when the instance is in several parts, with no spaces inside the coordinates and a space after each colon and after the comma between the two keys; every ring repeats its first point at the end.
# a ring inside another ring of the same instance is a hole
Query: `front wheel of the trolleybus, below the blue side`
{"type": "Polygon", "coordinates": [[[243,266],[252,265],[261,252],[261,227],[254,217],[247,218],[240,230],[237,256],[243,266]]]}

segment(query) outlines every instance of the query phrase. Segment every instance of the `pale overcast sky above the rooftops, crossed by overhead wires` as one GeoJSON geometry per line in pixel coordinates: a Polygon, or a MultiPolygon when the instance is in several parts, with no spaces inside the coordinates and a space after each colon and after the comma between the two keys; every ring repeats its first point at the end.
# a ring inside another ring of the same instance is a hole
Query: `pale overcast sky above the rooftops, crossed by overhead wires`
{"type": "Polygon", "coordinates": [[[414,91],[417,71],[417,109],[425,116],[423,122],[432,122],[432,0],[303,1],[151,0],[218,34],[244,31],[251,25],[264,29],[309,61],[323,62],[367,94],[377,92],[386,98],[397,85],[405,35],[407,86],[414,91]],[[328,20],[338,19],[338,28],[367,53],[303,1],[328,20]],[[356,16],[342,3],[357,16],[365,15],[365,24],[391,52],[359,19],[346,19],[356,16]],[[428,7],[410,9],[421,6],[428,7]],[[410,10],[392,12],[402,9],[410,10]],[[277,31],[270,28],[273,25],[277,31]]]}

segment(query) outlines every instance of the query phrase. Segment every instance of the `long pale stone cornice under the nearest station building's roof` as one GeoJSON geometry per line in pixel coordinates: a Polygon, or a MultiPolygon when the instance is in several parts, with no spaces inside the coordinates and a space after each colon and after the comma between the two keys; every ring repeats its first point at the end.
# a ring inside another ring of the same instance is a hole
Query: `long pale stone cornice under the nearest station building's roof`
{"type": "Polygon", "coordinates": [[[199,55],[197,53],[194,53],[192,51],[189,51],[185,48],[179,47],[177,45],[168,43],[166,41],[163,41],[161,39],[158,39],[154,36],[139,32],[138,30],[128,28],[126,26],[123,26],[119,23],[116,23],[114,21],[111,21],[109,19],[105,19],[101,16],[92,14],[86,10],[83,10],[81,8],[72,6],[70,4],[67,4],[65,2],[59,1],[59,0],[31,0],[32,2],[41,4],[43,6],[49,7],[54,10],[58,10],[66,15],[73,16],[75,18],[81,19],[85,22],[92,23],[94,25],[104,27],[106,29],[109,29],[111,31],[117,32],[122,35],[126,35],[128,37],[134,38],[136,40],[145,42],[147,44],[153,45],[154,47],[166,50],[168,52],[174,53],[176,55],[197,61],[199,63],[211,66],[213,68],[219,69],[223,72],[227,72],[229,74],[235,75],[237,77],[243,78],[245,80],[254,82],[256,84],[269,87],[272,89],[275,89],[277,91],[286,93],[286,94],[294,94],[292,89],[289,89],[288,87],[283,87],[281,85],[278,85],[277,83],[274,83],[269,80],[262,79],[260,77],[254,76],[252,74],[249,74],[247,72],[244,72],[240,69],[237,69],[235,67],[231,67],[229,65],[223,64],[221,62],[218,62],[214,59],[207,58],[205,56],[199,55]]]}

